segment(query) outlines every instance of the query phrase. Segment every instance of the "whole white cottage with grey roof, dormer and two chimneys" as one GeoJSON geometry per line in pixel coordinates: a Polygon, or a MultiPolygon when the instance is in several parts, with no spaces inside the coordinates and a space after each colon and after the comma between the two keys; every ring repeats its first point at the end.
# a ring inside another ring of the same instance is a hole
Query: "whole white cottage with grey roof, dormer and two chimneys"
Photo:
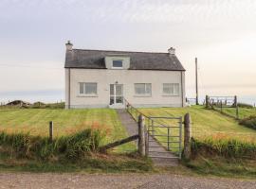
{"type": "Polygon", "coordinates": [[[65,52],[65,107],[183,107],[185,69],[168,53],[74,49],[65,52]]]}

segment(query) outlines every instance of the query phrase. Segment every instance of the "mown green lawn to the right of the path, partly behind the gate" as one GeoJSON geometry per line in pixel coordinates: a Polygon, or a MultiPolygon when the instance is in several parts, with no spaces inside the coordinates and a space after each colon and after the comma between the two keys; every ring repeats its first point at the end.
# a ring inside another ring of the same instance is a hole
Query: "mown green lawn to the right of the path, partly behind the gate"
{"type": "MultiPolygon", "coordinates": [[[[248,129],[238,124],[238,122],[219,112],[206,110],[202,106],[192,106],[187,108],[153,108],[139,109],[140,112],[148,116],[184,116],[190,112],[192,116],[192,136],[201,138],[213,137],[232,137],[243,138],[245,140],[256,141],[256,131],[248,129]]],[[[242,113],[242,110],[240,110],[242,113]]],[[[244,111],[244,110],[243,110],[244,111]]],[[[247,110],[245,110],[245,114],[247,110]]],[[[174,121],[157,120],[169,126],[177,126],[174,121]]],[[[159,129],[159,132],[166,132],[166,129],[159,129]]],[[[174,131],[176,132],[176,131],[174,131]]],[[[176,134],[176,133],[175,133],[176,134]]]]}

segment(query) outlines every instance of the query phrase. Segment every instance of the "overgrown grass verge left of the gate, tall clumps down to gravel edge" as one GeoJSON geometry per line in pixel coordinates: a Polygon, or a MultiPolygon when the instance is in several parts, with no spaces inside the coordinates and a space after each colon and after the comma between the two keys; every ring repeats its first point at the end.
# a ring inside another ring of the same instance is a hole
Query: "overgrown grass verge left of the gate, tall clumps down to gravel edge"
{"type": "Polygon", "coordinates": [[[0,132],[0,170],[32,172],[150,172],[151,161],[137,153],[100,154],[105,131],[84,129],[55,138],[0,132]]]}

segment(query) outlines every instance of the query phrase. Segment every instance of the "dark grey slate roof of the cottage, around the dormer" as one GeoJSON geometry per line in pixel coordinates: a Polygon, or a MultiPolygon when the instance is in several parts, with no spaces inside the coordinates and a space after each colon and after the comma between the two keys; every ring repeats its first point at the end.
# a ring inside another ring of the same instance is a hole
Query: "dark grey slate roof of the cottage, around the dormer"
{"type": "Polygon", "coordinates": [[[185,71],[175,55],[169,53],[73,49],[66,51],[65,68],[105,69],[106,56],[130,57],[130,70],[185,71]]]}

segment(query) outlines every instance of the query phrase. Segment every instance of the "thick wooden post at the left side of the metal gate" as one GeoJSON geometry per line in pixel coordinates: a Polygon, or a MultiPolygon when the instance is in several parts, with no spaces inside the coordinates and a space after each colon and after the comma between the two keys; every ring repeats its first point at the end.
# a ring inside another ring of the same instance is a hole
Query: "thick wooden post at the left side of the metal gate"
{"type": "Polygon", "coordinates": [[[145,150],[145,119],[142,114],[139,114],[138,117],[138,152],[141,156],[146,155],[145,150]]]}

